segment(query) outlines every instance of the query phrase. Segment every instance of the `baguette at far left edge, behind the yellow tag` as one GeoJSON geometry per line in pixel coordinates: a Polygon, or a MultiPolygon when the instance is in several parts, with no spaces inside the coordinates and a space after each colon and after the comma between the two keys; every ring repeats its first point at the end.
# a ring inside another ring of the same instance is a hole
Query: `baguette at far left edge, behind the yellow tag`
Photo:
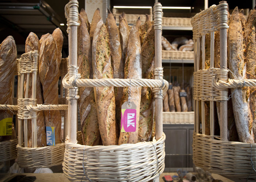
{"type": "MultiPolygon", "coordinates": [[[[12,36],[8,36],[0,44],[0,104],[9,104],[12,99],[12,79],[16,65],[17,50],[12,36]]],[[[10,111],[8,114],[12,115],[10,111]]],[[[0,110],[5,114],[5,110],[0,110]]],[[[15,137],[15,131],[12,130],[12,136],[15,137]]],[[[12,136],[0,136],[0,141],[10,140],[12,136]]]]}

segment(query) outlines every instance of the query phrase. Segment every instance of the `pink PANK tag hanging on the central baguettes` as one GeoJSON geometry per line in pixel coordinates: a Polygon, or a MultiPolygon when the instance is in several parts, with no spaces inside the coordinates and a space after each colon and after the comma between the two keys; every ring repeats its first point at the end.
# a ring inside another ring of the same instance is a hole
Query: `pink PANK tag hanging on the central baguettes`
{"type": "Polygon", "coordinates": [[[122,105],[121,132],[136,131],[136,104],[125,102],[122,105]]]}

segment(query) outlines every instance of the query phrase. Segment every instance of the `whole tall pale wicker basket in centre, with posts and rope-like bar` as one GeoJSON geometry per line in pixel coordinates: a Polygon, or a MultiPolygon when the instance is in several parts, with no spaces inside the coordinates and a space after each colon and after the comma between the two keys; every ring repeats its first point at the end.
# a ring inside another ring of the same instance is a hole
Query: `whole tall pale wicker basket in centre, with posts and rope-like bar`
{"type": "Polygon", "coordinates": [[[164,141],[162,132],[162,98],[168,88],[163,80],[161,63],[162,6],[154,6],[155,79],[131,79],[131,86],[153,87],[156,100],[156,135],[152,142],[136,144],[85,146],[76,140],[76,110],[78,87],[128,87],[129,79],[79,79],[77,74],[78,1],[65,7],[69,33],[69,68],[63,86],[69,89],[68,136],[65,142],[63,172],[70,181],[159,181],[164,169],[164,141]]]}

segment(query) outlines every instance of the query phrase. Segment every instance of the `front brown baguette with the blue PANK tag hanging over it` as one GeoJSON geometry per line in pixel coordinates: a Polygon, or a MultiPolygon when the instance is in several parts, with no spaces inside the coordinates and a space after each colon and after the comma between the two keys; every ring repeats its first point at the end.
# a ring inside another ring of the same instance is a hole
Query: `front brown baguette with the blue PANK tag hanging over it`
{"type": "MultiPolygon", "coordinates": [[[[57,62],[57,45],[52,35],[42,41],[39,54],[39,76],[43,88],[44,103],[58,104],[58,82],[60,78],[57,62]]],[[[59,110],[44,111],[45,125],[51,123],[55,130],[55,143],[61,143],[61,116],[59,110]]]]}

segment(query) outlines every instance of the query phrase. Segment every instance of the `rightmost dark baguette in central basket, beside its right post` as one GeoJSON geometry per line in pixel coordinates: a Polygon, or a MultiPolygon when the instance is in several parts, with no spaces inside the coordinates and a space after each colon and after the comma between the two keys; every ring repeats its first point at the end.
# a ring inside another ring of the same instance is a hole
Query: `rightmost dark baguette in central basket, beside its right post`
{"type": "MultiPolygon", "coordinates": [[[[141,48],[142,78],[154,79],[155,30],[151,25],[141,48]]],[[[138,141],[149,141],[152,134],[155,100],[150,87],[142,87],[138,141]]]]}

